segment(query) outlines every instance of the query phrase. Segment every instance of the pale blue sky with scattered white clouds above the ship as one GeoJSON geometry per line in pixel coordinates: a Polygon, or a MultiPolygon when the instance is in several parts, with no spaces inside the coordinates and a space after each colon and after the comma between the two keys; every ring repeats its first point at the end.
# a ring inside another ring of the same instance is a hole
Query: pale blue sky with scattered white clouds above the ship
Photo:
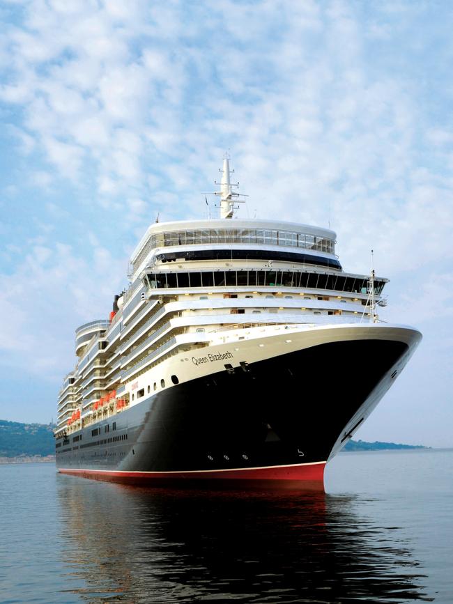
{"type": "Polygon", "coordinates": [[[75,328],[107,318],[157,215],[330,226],[381,318],[424,339],[355,435],[453,447],[453,5],[3,0],[0,419],[56,418],[75,328]]]}

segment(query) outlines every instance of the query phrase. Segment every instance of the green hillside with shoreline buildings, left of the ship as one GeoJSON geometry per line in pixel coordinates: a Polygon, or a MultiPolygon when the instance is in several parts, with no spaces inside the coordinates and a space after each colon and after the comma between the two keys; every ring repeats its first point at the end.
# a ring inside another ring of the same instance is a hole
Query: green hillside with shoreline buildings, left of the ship
{"type": "Polygon", "coordinates": [[[0,419],[0,457],[54,455],[53,424],[20,424],[0,419]]]}

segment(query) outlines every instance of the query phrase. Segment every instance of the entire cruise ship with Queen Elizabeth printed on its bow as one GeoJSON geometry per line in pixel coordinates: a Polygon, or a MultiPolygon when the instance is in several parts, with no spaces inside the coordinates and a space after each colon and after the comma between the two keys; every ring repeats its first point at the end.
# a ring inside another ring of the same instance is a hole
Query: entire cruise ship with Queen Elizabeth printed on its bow
{"type": "Polygon", "coordinates": [[[59,392],[59,472],[131,484],[323,488],[325,464],[420,342],[378,318],[387,279],[345,272],[330,229],[155,222],[59,392]],[[106,313],[107,314],[107,313],[106,313]]]}

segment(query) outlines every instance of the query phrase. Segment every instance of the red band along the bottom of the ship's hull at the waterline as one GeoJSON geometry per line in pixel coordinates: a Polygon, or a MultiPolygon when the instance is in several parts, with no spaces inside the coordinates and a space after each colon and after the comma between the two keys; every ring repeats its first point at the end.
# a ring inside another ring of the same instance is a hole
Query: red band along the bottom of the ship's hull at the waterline
{"type": "Polygon", "coordinates": [[[206,472],[119,472],[115,470],[76,470],[59,468],[61,474],[137,486],[222,486],[239,488],[299,488],[324,490],[325,461],[300,465],[255,467],[247,470],[209,470],[206,472]]]}

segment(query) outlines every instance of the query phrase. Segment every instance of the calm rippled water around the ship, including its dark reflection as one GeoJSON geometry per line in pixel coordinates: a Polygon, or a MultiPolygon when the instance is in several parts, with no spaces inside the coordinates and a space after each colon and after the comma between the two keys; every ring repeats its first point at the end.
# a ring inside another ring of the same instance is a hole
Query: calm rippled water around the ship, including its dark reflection
{"type": "Polygon", "coordinates": [[[0,602],[453,602],[453,451],[343,454],[326,495],[0,465],[0,602]]]}

